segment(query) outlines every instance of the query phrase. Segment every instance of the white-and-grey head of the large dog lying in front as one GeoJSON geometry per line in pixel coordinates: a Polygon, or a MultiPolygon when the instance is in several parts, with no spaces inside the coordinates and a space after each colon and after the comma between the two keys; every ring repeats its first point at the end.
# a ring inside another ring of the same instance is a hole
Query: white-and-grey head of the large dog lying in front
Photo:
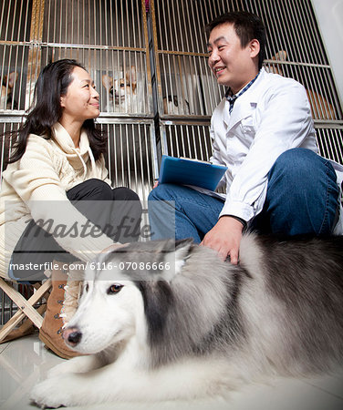
{"type": "Polygon", "coordinates": [[[78,311],[63,337],[68,346],[84,354],[147,337],[144,288],[154,292],[161,282],[172,282],[182,271],[192,240],[130,243],[101,254],[88,265],[78,311]],[[149,282],[149,284],[147,284],[149,282]]]}

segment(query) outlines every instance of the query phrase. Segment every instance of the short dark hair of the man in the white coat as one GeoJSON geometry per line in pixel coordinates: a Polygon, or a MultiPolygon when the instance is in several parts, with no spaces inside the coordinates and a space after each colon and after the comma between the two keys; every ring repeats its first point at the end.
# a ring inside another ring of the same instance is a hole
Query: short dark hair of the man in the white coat
{"type": "Polygon", "coordinates": [[[260,43],[260,53],[258,55],[258,68],[262,68],[265,59],[265,25],[258,15],[246,11],[236,11],[225,13],[214,18],[214,20],[205,27],[205,31],[210,36],[216,26],[230,23],[234,25],[236,35],[241,41],[244,48],[253,39],[260,43]]]}

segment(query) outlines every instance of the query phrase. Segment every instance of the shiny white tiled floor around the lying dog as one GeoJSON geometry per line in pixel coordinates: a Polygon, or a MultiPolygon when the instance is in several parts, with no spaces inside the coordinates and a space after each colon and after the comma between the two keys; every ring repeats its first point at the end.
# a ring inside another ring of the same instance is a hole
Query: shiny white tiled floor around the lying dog
{"type": "MultiPolygon", "coordinates": [[[[29,391],[47,369],[63,359],[47,351],[36,334],[0,344],[0,409],[35,410],[29,391]]],[[[113,383],[115,383],[113,381],[113,383]]],[[[168,402],[156,405],[119,404],[89,406],[118,410],[342,410],[343,370],[314,379],[278,379],[273,385],[255,384],[235,392],[229,400],[168,402]]]]}

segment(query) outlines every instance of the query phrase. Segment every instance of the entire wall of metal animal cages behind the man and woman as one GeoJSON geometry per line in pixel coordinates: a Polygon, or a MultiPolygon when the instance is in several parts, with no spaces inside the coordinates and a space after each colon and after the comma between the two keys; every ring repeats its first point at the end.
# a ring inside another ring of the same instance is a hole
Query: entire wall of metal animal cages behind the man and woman
{"type": "MultiPolygon", "coordinates": [[[[224,89],[203,27],[229,10],[261,15],[265,68],[307,88],[320,152],[343,163],[342,108],[310,0],[3,1],[0,132],[22,121],[42,67],[76,58],[99,90],[110,178],[146,200],[161,154],[211,156],[210,116],[224,89]]],[[[0,172],[10,148],[3,139],[0,172]]]]}

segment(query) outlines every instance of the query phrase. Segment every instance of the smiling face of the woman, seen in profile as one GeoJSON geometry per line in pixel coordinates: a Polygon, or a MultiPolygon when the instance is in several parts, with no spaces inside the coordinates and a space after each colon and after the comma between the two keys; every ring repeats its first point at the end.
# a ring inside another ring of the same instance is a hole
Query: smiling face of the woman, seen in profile
{"type": "Polygon", "coordinates": [[[99,93],[88,72],[74,67],[67,94],[61,97],[62,118],[83,123],[99,116],[99,93]]]}

